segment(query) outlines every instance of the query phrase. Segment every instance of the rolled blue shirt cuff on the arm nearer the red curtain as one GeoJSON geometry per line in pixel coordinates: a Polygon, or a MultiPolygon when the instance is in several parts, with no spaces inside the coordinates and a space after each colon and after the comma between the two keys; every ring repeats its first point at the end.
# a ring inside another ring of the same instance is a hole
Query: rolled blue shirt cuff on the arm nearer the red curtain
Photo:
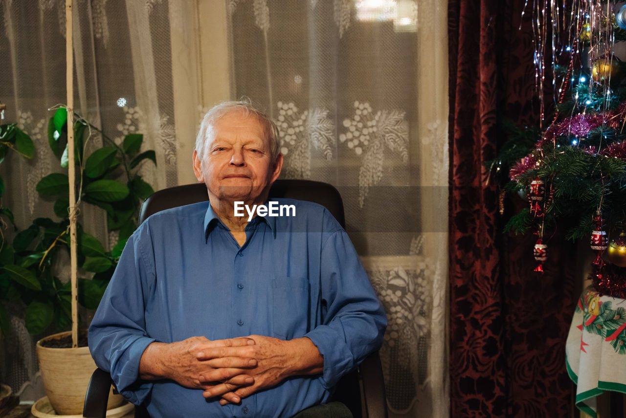
{"type": "Polygon", "coordinates": [[[344,374],[354,369],[354,359],[342,332],[329,325],[319,325],[304,337],[311,340],[324,357],[322,380],[326,389],[332,389],[344,374]]]}

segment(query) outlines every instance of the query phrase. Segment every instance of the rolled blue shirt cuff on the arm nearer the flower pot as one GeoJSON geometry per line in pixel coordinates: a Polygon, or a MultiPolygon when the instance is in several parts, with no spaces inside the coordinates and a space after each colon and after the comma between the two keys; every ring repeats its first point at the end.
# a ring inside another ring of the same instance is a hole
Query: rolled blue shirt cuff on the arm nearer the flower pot
{"type": "Polygon", "coordinates": [[[138,337],[130,342],[124,354],[118,359],[117,364],[120,367],[112,367],[111,379],[115,382],[118,392],[132,404],[140,405],[152,390],[152,382],[139,379],[139,364],[143,352],[155,341],[150,337],[138,337]]]}

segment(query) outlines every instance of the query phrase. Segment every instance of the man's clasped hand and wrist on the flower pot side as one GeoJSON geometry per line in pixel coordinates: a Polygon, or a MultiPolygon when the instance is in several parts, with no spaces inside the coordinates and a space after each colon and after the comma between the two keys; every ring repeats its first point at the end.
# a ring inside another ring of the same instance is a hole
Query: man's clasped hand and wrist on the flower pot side
{"type": "MultiPolygon", "coordinates": [[[[254,344],[249,338],[209,340],[206,337],[191,337],[170,344],[153,342],[141,355],[139,377],[171,379],[185,387],[203,390],[215,382],[227,383],[233,389],[250,385],[254,378],[246,372],[257,365],[252,357],[254,350],[249,347],[254,344]]],[[[239,397],[229,395],[230,402],[239,402],[239,397]]]]}

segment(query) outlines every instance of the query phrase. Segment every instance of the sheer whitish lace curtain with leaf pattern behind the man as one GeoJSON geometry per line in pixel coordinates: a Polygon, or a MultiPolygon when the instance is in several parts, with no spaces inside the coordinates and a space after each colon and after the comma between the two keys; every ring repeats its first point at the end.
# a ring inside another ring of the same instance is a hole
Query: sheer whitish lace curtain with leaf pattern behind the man
{"type": "MultiPolygon", "coordinates": [[[[52,213],[34,185],[58,170],[46,123],[64,101],[63,3],[0,0],[4,122],[38,145],[33,161],[2,165],[3,205],[21,228],[52,213]]],[[[144,133],[158,155],[143,173],[155,190],[195,181],[195,130],[218,101],[247,96],[277,121],[283,176],[327,181],[344,198],[389,318],[381,359],[392,415],[447,417],[445,2],[74,0],[74,25],[76,111],[116,140],[144,133]]],[[[115,241],[101,212],[82,216],[115,241]]],[[[37,380],[32,341],[4,344],[0,379],[23,393],[37,380]]]]}

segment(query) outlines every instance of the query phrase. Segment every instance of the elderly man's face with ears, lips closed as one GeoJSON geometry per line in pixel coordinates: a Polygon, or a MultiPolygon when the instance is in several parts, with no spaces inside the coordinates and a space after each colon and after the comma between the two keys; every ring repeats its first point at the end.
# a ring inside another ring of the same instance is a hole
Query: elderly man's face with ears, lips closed
{"type": "Polygon", "coordinates": [[[272,164],[269,138],[257,117],[233,110],[208,130],[203,156],[193,151],[193,171],[215,199],[255,201],[274,183],[282,155],[272,164]]]}

